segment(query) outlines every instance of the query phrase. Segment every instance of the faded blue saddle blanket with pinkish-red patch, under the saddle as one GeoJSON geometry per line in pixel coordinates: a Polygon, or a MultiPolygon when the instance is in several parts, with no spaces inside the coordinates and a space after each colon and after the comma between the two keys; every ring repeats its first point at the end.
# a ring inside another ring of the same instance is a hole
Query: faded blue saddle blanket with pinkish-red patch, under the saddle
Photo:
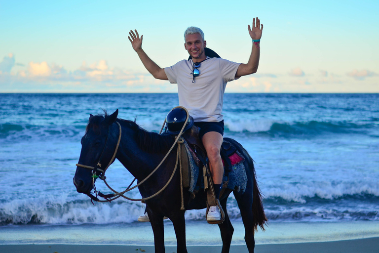
{"type": "MultiPolygon", "coordinates": [[[[202,176],[202,169],[200,170],[197,166],[199,164],[198,158],[196,154],[189,147],[187,141],[184,142],[184,146],[187,151],[188,159],[189,159],[189,192],[193,192],[195,190],[204,189],[204,179],[202,176]],[[200,174],[201,171],[201,174],[200,174]],[[200,178],[199,178],[200,176],[200,178]],[[196,185],[200,179],[200,185],[196,185]]],[[[243,156],[236,151],[234,154],[229,156],[232,168],[229,170],[228,178],[225,176],[226,170],[224,169],[224,178],[223,181],[227,181],[227,188],[231,190],[237,190],[238,192],[245,192],[246,184],[247,184],[247,175],[243,162],[245,159],[243,156]]],[[[224,160],[223,160],[224,164],[224,160]]],[[[225,167],[224,167],[225,168],[225,167]]],[[[223,183],[224,185],[224,183],[223,183]]]]}

